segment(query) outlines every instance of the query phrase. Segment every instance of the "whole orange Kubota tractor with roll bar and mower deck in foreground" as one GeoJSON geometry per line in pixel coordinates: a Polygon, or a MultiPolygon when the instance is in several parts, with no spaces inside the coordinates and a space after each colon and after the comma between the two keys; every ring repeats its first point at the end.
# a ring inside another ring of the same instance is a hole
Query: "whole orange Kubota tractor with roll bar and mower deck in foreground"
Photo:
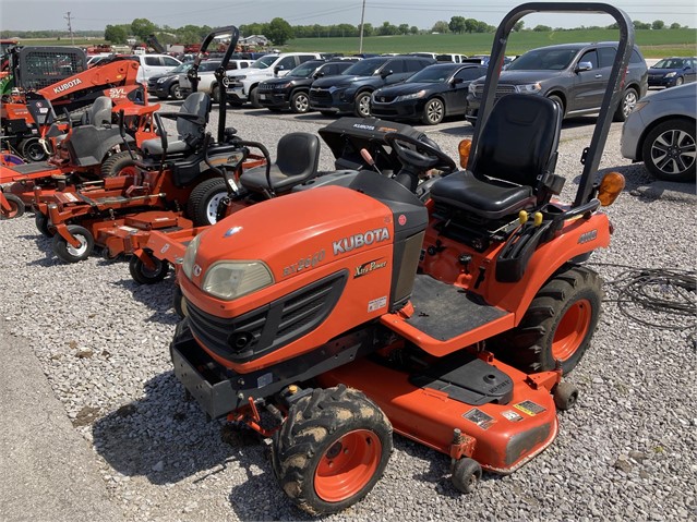
{"type": "Polygon", "coordinates": [[[608,246],[599,209],[624,186],[617,173],[594,179],[633,41],[609,4],[515,8],[494,37],[467,168],[432,183],[425,205],[419,174],[456,166],[397,133],[396,180],[358,172],[242,209],[189,244],[175,374],[209,416],[273,437],[273,471],[300,508],[332,513],[364,497],[393,430],[448,456],[462,491],[554,440],[557,409],[578,397],[562,377],[600,313],[600,278],[582,262],[608,246]],[[570,204],[556,198],[560,107],[522,94],[494,106],[510,31],[549,11],[609,13],[621,33],[570,204]]]}

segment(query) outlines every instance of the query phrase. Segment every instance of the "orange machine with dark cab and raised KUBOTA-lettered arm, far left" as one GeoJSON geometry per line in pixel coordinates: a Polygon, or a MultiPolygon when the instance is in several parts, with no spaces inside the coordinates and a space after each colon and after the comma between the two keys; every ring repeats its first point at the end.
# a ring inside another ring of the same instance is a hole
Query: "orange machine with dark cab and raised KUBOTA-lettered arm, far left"
{"type": "MultiPolygon", "coordinates": [[[[40,129],[27,108],[31,100],[47,100],[58,117],[91,106],[106,96],[115,105],[144,105],[145,87],[136,82],[139,62],[113,57],[87,69],[80,49],[17,47],[10,52],[13,88],[3,93],[0,107],[2,133],[9,145],[28,161],[43,161],[48,151],[40,129]]],[[[67,130],[70,122],[62,122],[67,130]]]]}

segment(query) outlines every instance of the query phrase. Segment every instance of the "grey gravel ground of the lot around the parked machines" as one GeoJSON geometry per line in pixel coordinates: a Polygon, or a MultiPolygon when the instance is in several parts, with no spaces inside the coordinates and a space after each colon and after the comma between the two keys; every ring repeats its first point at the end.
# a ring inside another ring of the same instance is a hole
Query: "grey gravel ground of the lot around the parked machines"
{"type": "MultiPolygon", "coordinates": [[[[228,118],[272,154],[283,134],[315,132],[332,121],[252,110],[230,110],[228,118]]],[[[211,129],[216,122],[214,114],[211,129]]],[[[557,173],[567,178],[567,197],[592,123],[564,125],[557,173]]],[[[641,195],[651,179],[621,157],[620,130],[613,125],[602,167],[622,171],[627,190],[608,209],[613,244],[593,260],[694,269],[695,186],[682,187],[684,194],[678,189],[676,197],[641,195]]],[[[471,126],[449,122],[428,131],[455,156],[471,126]]],[[[332,163],[324,147],[321,167],[332,163]]],[[[171,279],[139,287],[125,263],[97,256],[64,265],[31,215],[0,223],[0,314],[35,350],[128,520],[308,519],[278,488],[264,444],[206,422],[195,402],[184,401],[167,350],[176,324],[171,279]]],[[[618,274],[598,270],[605,279],[618,274]]],[[[660,313],[645,317],[674,324],[660,313]]],[[[556,441],[513,475],[485,474],[473,494],[460,495],[449,483],[446,457],[396,436],[383,479],[362,502],[327,520],[456,520],[465,513],[491,521],[695,520],[697,371],[688,332],[630,320],[609,302],[569,380],[580,388],[579,405],[560,415],[556,441]]]]}

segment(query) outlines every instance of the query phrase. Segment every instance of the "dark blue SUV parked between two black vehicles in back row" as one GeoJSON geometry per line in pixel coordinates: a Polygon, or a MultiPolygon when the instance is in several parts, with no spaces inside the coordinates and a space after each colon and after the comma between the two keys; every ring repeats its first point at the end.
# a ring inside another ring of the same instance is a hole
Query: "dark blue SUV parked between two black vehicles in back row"
{"type": "Polygon", "coordinates": [[[310,108],[323,114],[353,112],[370,116],[373,90],[404,82],[413,73],[436,63],[422,57],[375,57],[353,63],[341,76],[315,80],[310,88],[310,108]]]}

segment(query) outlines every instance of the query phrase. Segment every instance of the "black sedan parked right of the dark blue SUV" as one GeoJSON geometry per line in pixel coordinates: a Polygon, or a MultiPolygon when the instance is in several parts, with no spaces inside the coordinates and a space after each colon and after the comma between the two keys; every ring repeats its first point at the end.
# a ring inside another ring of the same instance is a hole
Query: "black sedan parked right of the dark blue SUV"
{"type": "Polygon", "coordinates": [[[446,116],[465,114],[467,87],[486,74],[486,68],[438,63],[419,71],[406,82],[373,93],[370,111],[387,120],[421,120],[435,125],[446,116]]]}

